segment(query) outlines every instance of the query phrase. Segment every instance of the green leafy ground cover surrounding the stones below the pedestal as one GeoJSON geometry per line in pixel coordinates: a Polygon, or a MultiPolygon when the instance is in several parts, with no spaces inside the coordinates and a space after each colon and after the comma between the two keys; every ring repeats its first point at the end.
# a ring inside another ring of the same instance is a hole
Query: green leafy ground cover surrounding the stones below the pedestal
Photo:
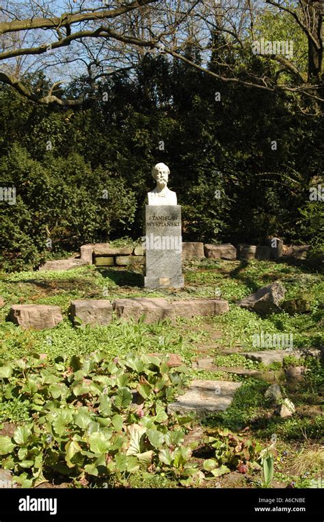
{"type": "Polygon", "coordinates": [[[5,300],[0,309],[0,458],[16,482],[261,487],[267,485],[262,451],[271,447],[272,485],[318,486],[323,459],[320,362],[306,360],[303,380],[282,385],[284,396],[296,406],[288,419],[274,415],[265,400],[267,382],[224,371],[198,371],[191,364],[211,356],[219,367],[262,369],[240,353],[256,349],[252,338],[260,332],[291,333],[294,347],[320,349],[324,277],[308,273],[302,265],[204,260],[185,264],[185,280],[180,290],[151,291],[141,288],[141,273],[118,268],[0,275],[5,300]],[[286,299],[306,297],[308,311],[264,319],[235,305],[275,280],[284,284],[286,299]],[[172,328],[168,321],[146,325],[117,319],[106,327],[74,328],[68,319],[72,299],[135,296],[217,296],[229,301],[230,312],[178,319],[172,328]],[[23,331],[5,321],[11,303],[57,304],[64,321],[53,330],[23,331]],[[159,353],[161,360],[150,353],[159,353]],[[167,353],[179,353],[183,367],[168,368],[167,353]],[[165,413],[167,402],[192,377],[243,384],[226,412],[211,415],[201,425],[197,419],[165,413]],[[200,443],[184,444],[198,427],[204,430],[200,443]],[[134,440],[136,452],[130,449],[134,440]],[[303,464],[298,460],[301,452],[303,464]]]}

